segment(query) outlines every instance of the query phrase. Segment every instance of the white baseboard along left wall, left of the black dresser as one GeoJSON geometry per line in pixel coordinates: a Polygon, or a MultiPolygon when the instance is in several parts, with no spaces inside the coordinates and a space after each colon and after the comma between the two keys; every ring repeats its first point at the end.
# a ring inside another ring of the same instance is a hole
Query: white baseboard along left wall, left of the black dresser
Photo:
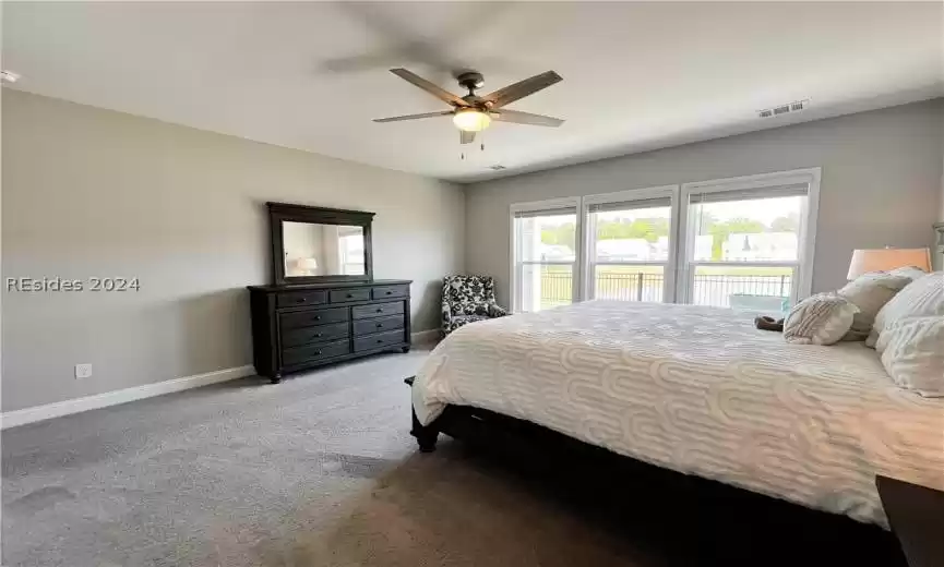
{"type": "Polygon", "coordinates": [[[83,411],[96,410],[98,408],[118,406],[119,403],[152,398],[154,396],[163,396],[164,394],[170,394],[174,391],[199,388],[200,386],[208,386],[218,382],[242,378],[254,374],[255,369],[251,365],[238,366],[235,369],[218,370],[205,374],[195,374],[193,376],[158,382],[156,384],[145,384],[144,386],[135,386],[133,388],[106,391],[105,394],[96,394],[84,398],[57,401],[45,406],[34,406],[22,410],[8,411],[0,413],[0,429],[5,430],[17,425],[25,425],[27,423],[69,415],[70,413],[80,413],[83,411]]]}

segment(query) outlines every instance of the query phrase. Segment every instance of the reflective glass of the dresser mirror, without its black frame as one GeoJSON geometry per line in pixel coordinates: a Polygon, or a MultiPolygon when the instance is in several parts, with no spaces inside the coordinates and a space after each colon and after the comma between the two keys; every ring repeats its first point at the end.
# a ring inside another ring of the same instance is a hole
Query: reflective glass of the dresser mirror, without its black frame
{"type": "Polygon", "coordinates": [[[363,227],[282,221],[285,277],[362,276],[363,227]]]}

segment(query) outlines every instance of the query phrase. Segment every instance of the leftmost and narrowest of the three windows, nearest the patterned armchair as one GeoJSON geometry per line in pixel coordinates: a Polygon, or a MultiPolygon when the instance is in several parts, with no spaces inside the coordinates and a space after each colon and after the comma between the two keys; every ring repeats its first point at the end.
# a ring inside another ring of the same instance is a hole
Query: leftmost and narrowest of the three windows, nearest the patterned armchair
{"type": "Polygon", "coordinates": [[[540,311],[572,303],[577,297],[576,203],[519,205],[512,218],[514,310],[540,311]]]}

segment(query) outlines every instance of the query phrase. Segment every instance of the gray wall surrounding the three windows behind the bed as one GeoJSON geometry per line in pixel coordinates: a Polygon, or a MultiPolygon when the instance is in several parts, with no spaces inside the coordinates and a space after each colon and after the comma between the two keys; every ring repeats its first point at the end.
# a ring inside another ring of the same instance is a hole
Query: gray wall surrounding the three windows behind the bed
{"type": "Polygon", "coordinates": [[[856,248],[932,243],[942,124],[936,99],[468,185],[466,269],[507,304],[511,203],[820,166],[813,290],[836,289],[856,248]]]}

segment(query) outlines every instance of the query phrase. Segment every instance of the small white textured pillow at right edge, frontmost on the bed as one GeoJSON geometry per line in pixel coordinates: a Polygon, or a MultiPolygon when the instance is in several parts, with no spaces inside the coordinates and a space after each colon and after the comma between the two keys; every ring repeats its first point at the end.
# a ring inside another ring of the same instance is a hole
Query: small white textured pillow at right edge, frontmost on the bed
{"type": "Polygon", "coordinates": [[[944,397],[944,316],[891,323],[875,350],[895,384],[924,397],[944,397]]]}

